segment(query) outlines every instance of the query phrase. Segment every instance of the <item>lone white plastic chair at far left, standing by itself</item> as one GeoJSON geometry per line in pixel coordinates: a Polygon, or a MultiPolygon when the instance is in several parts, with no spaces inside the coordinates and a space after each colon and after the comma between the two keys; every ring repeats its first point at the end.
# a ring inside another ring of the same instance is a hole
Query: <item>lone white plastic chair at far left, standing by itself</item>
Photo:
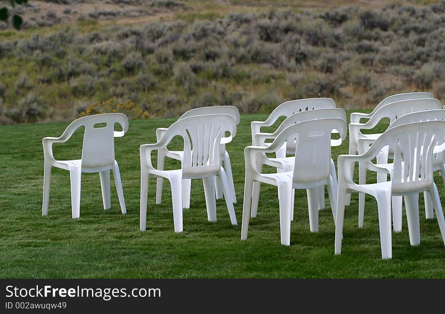
{"type": "Polygon", "coordinates": [[[80,174],[99,172],[102,187],[104,209],[111,207],[110,170],[113,170],[114,182],[119,197],[120,209],[126,213],[119,166],[114,159],[114,138],[123,137],[128,130],[128,118],[123,113],[105,113],[86,116],[73,121],[59,138],[43,138],[44,174],[42,215],[48,215],[50,199],[51,168],[57,167],[70,171],[72,217],[80,216],[80,174]],[[105,126],[99,125],[105,123],[105,126]],[[115,131],[114,124],[119,123],[122,131],[115,131]],[[77,160],[56,160],[53,156],[53,144],[65,143],[75,130],[85,127],[83,133],[82,157],[77,160]]]}

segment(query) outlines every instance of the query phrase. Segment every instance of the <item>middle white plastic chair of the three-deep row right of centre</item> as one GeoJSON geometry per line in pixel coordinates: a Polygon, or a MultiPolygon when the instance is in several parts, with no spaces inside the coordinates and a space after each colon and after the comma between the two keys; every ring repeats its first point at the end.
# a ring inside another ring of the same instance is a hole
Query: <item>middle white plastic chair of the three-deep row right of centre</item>
{"type": "MultiPolygon", "coordinates": [[[[266,145],[267,143],[265,143],[265,141],[274,140],[278,136],[278,134],[280,134],[285,128],[289,127],[292,124],[308,120],[326,119],[326,118],[342,119],[344,120],[344,126],[346,127],[346,113],[341,108],[300,111],[287,117],[273,133],[265,133],[265,132],[256,133],[254,136],[254,146],[267,146],[266,145]]],[[[337,130],[334,130],[333,132],[337,132],[337,130]]],[[[341,145],[341,142],[343,140],[344,138],[340,138],[338,140],[331,140],[331,146],[339,146],[341,145]]],[[[283,145],[282,149],[286,150],[286,152],[292,152],[292,154],[294,154],[296,149],[296,138],[288,139],[283,145]]],[[[278,172],[291,171],[293,169],[295,160],[295,157],[266,158],[264,154],[258,154],[257,158],[259,158],[257,160],[258,165],[264,164],[276,167],[277,169],[280,169],[280,171],[278,172]]],[[[331,159],[331,171],[332,171],[331,175],[334,178],[334,183],[335,183],[334,190],[337,191],[337,184],[336,184],[337,175],[335,172],[334,161],[332,159],[331,159]]],[[[255,188],[259,188],[259,185],[260,183],[258,182],[255,188]]],[[[319,198],[324,198],[324,186],[322,186],[320,190],[322,191],[322,193],[319,192],[320,193],[319,198]]],[[[292,195],[294,195],[294,190],[292,190],[292,193],[293,193],[292,195]]],[[[309,190],[307,190],[307,193],[309,194],[309,190]]],[[[252,208],[250,212],[251,217],[256,217],[257,215],[258,198],[259,198],[259,193],[254,192],[252,198],[252,208]]],[[[292,198],[291,220],[293,220],[293,208],[294,208],[293,204],[294,204],[294,199],[292,198]]]]}

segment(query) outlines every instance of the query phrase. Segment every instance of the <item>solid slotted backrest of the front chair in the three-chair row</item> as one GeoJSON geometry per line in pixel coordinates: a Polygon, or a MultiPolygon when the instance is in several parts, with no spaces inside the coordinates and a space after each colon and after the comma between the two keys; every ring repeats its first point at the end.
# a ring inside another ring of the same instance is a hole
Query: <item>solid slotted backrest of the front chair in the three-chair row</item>
{"type": "Polygon", "coordinates": [[[317,119],[288,126],[276,138],[280,144],[296,138],[293,184],[320,182],[331,173],[331,132],[337,130],[346,137],[346,122],[343,119],[317,119]]]}

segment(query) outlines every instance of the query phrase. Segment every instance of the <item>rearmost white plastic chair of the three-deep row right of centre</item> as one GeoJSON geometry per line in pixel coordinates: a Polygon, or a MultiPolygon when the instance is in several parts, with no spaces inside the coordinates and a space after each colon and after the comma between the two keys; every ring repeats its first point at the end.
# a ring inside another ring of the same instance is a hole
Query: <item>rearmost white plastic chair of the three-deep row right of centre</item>
{"type": "MultiPolygon", "coordinates": [[[[275,108],[269,117],[265,121],[252,121],[250,123],[251,132],[252,132],[252,145],[254,143],[254,137],[256,133],[261,131],[261,127],[272,126],[280,117],[289,117],[297,112],[302,111],[310,111],[316,109],[328,109],[335,108],[335,101],[331,98],[306,98],[306,99],[297,99],[287,101],[282,103],[277,108],[275,108]]],[[[269,145],[265,143],[264,145],[269,145]]],[[[284,158],[287,154],[293,154],[295,150],[292,147],[289,147],[288,150],[285,149],[285,146],[281,147],[275,154],[277,158],[284,158]]],[[[281,171],[278,169],[277,171],[281,171]]],[[[259,194],[259,182],[255,182],[253,187],[253,194],[255,195],[254,199],[257,199],[257,195],[259,194]]],[[[320,188],[319,191],[319,208],[325,208],[325,192],[320,188]]]]}

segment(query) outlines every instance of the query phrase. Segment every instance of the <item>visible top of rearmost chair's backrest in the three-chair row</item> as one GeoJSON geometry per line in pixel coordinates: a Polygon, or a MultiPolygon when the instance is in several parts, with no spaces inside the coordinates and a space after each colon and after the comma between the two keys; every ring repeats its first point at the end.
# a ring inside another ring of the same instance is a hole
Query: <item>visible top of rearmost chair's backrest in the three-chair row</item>
{"type": "Polygon", "coordinates": [[[275,108],[266,121],[273,124],[275,121],[278,120],[278,118],[282,116],[289,117],[290,115],[301,111],[335,107],[335,102],[331,98],[306,98],[290,100],[282,103],[277,108],[275,108]]]}

